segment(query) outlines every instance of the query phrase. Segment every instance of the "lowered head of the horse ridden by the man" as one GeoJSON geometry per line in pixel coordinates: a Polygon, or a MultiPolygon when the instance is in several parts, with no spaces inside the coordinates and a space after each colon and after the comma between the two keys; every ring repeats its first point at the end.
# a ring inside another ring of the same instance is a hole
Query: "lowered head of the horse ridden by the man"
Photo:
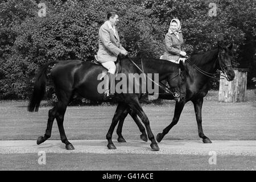
{"type": "Polygon", "coordinates": [[[174,99],[177,102],[184,102],[186,98],[186,85],[188,70],[183,61],[179,63],[179,72],[172,73],[168,76],[167,81],[170,85],[171,91],[174,93],[174,99]]]}

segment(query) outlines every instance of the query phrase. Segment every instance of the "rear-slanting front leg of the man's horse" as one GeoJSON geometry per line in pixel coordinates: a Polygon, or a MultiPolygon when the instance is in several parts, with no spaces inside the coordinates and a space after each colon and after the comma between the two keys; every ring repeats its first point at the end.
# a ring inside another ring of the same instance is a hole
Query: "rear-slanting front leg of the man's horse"
{"type": "Polygon", "coordinates": [[[108,148],[109,149],[116,149],[114,146],[114,143],[112,142],[112,135],[115,129],[115,126],[117,126],[117,123],[119,121],[119,117],[123,114],[123,111],[127,109],[127,105],[125,103],[120,103],[117,106],[117,110],[115,110],[114,117],[112,119],[112,123],[110,125],[109,131],[106,134],[106,139],[108,140],[108,148]]]}

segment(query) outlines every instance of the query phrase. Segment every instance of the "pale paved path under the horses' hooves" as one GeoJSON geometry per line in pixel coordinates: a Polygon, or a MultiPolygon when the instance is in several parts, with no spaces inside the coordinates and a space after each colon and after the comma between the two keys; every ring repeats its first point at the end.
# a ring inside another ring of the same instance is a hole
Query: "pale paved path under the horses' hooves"
{"type": "Polygon", "coordinates": [[[256,156],[256,140],[213,140],[204,144],[201,140],[163,140],[159,143],[160,151],[151,151],[150,142],[127,140],[117,143],[117,150],[108,150],[106,140],[70,140],[75,150],[65,150],[60,140],[47,140],[37,145],[35,140],[0,140],[0,154],[32,154],[39,151],[46,153],[86,153],[86,154],[180,154],[256,156]]]}

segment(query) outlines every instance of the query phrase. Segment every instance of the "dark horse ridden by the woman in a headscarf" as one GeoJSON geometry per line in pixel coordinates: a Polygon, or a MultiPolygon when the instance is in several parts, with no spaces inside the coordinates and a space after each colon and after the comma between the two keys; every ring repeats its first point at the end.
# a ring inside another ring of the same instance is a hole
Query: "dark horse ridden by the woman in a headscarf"
{"type": "MultiPolygon", "coordinates": [[[[234,80],[235,74],[231,64],[231,61],[233,59],[233,57],[231,56],[232,46],[233,44],[228,47],[220,46],[220,44],[218,44],[218,48],[199,55],[192,55],[191,59],[185,61],[186,68],[188,69],[186,99],[184,102],[176,102],[174,118],[172,119],[170,125],[168,125],[163,130],[163,133],[159,133],[156,136],[156,140],[158,142],[160,142],[163,139],[164,135],[166,135],[171,130],[171,128],[177,124],[185,103],[188,101],[192,101],[195,108],[199,137],[203,139],[204,143],[212,143],[210,139],[206,137],[203,133],[201,116],[203,99],[209,90],[209,80],[217,74],[216,71],[218,69],[226,74],[226,79],[228,81],[234,80]]],[[[159,92],[163,93],[164,91],[159,89],[159,92]]],[[[170,94],[159,94],[159,98],[165,100],[174,100],[174,97],[172,97],[170,94]]],[[[137,118],[136,113],[132,109],[126,109],[122,116],[119,118],[117,128],[118,142],[126,142],[122,136],[122,126],[123,121],[128,113],[138,125],[139,130],[142,133],[141,139],[147,141],[145,129],[137,118]]]]}

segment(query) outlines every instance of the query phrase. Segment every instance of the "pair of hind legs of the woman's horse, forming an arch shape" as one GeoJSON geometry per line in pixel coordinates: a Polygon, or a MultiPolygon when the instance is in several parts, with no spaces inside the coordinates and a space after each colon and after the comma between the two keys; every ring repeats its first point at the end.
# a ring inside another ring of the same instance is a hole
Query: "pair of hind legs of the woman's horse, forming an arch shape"
{"type": "Polygon", "coordinates": [[[132,110],[132,109],[128,109],[125,110],[125,112],[121,115],[119,122],[118,122],[118,127],[117,127],[117,135],[118,135],[118,142],[126,142],[125,139],[122,136],[122,127],[123,127],[123,122],[125,121],[125,118],[127,117],[127,114],[130,114],[131,117],[133,118],[134,122],[136,123],[136,125],[139,127],[139,131],[141,131],[141,139],[144,142],[147,142],[147,133],[146,133],[146,129],[144,128],[144,126],[142,125],[141,121],[139,121],[139,118],[137,117],[137,114],[132,110]]]}

